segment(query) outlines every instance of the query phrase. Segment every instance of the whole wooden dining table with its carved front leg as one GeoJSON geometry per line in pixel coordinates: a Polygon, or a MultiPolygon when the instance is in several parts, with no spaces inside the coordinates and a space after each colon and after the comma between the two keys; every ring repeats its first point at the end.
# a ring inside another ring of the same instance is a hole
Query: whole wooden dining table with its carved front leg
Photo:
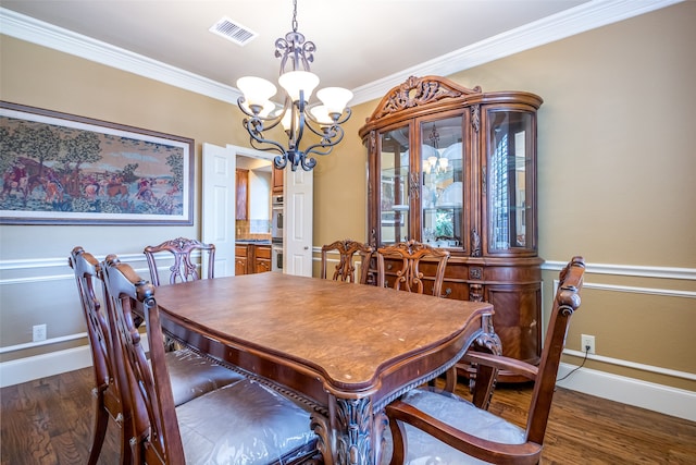
{"type": "Polygon", "coordinates": [[[384,407],[443,375],[493,306],[281,272],[157,287],[162,329],[302,403],[327,465],[378,464],[384,407]]]}

